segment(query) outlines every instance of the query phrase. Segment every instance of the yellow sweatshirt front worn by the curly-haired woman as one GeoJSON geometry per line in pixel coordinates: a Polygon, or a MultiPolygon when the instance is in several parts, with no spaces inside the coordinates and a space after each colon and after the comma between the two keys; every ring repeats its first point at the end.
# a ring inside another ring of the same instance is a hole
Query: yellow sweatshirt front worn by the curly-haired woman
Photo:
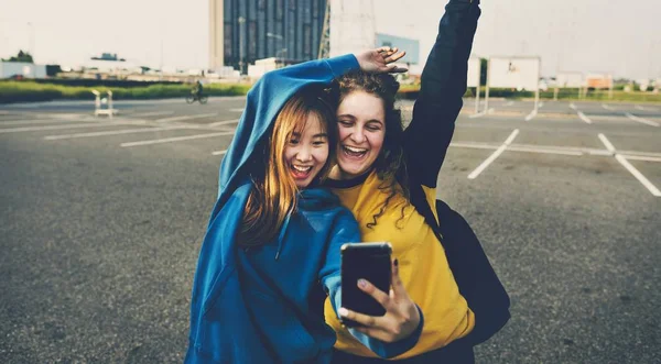
{"type": "MultiPolygon", "coordinates": [[[[332,187],[342,203],[354,212],[364,242],[386,241],[392,244],[392,258],[399,260],[404,287],[424,315],[424,327],[418,344],[397,356],[398,360],[443,348],[465,337],[475,326],[475,316],[459,294],[445,251],[424,218],[409,205],[400,220],[401,208],[405,203],[403,196],[394,196],[384,213],[378,218],[377,224],[371,229],[367,228],[388,197],[387,190],[378,189],[380,183],[372,172],[357,186],[332,187]]],[[[434,207],[435,188],[423,188],[427,202],[434,207]]],[[[432,210],[435,214],[435,209],[432,210]]],[[[337,333],[336,349],[355,355],[377,357],[342,327],[328,299],[324,310],[326,323],[337,333]]]]}

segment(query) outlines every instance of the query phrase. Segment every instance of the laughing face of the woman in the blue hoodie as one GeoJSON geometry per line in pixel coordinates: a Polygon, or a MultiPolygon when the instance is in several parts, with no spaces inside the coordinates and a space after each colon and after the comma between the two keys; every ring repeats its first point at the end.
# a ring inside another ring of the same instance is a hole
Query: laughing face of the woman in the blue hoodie
{"type": "Polygon", "coordinates": [[[314,112],[307,115],[302,131],[292,132],[282,154],[296,187],[310,186],[328,159],[328,135],[314,112]]]}

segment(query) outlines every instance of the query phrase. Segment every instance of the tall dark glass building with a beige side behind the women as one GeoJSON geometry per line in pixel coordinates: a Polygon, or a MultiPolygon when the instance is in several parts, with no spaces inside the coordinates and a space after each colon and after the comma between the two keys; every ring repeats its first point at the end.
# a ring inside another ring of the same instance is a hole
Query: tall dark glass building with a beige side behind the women
{"type": "Polygon", "coordinates": [[[209,68],[317,57],[326,0],[209,0],[209,68]]]}

